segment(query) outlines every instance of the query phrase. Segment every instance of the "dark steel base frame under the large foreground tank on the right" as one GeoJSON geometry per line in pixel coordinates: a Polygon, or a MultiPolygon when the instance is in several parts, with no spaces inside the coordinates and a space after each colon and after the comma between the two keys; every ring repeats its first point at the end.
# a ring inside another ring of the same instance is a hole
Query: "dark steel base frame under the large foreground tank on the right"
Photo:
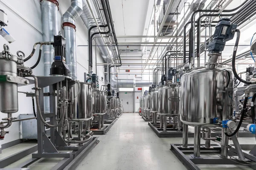
{"type": "MultiPolygon", "coordinates": [[[[250,164],[250,168],[256,169],[256,157],[250,153],[246,153],[243,150],[244,157],[247,159],[245,161],[239,161],[236,149],[232,146],[229,146],[228,158],[222,158],[221,155],[221,145],[220,144],[211,144],[211,148],[204,147],[204,144],[201,144],[201,157],[195,158],[193,155],[194,144],[188,144],[187,148],[182,147],[181,144],[171,144],[172,152],[177,156],[178,159],[185,165],[188,170],[200,170],[197,165],[234,165],[234,164],[250,164]],[[214,154],[214,156],[209,156],[214,154]]],[[[218,167],[217,169],[221,169],[218,167]]]]}

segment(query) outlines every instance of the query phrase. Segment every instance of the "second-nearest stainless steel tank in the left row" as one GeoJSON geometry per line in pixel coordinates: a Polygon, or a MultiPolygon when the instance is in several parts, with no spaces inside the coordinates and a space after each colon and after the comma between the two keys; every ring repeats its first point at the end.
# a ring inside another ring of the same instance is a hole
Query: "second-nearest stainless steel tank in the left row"
{"type": "Polygon", "coordinates": [[[104,91],[93,90],[93,113],[106,113],[106,96],[104,91]]]}

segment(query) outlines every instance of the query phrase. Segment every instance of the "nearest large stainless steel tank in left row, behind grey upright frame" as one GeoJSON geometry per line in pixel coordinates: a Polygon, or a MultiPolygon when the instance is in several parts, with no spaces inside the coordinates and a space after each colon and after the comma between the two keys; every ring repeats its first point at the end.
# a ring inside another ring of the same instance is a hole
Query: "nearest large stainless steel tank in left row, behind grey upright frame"
{"type": "Polygon", "coordinates": [[[70,105],[68,108],[68,118],[71,120],[79,120],[79,121],[90,120],[92,119],[92,116],[93,116],[92,85],[88,83],[80,82],[80,92],[79,93],[78,92],[79,92],[78,82],[76,82],[75,85],[72,85],[68,88],[68,97],[70,102],[70,105]]]}

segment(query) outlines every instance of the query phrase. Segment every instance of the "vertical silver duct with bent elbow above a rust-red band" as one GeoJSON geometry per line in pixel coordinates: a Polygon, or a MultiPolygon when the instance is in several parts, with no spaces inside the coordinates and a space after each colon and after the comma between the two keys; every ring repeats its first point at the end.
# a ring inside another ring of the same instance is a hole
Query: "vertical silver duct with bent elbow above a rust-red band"
{"type": "Polygon", "coordinates": [[[82,12],[82,0],[71,0],[71,6],[63,14],[64,37],[66,38],[66,64],[69,67],[72,79],[77,78],[75,21],[81,15],[82,12]]]}

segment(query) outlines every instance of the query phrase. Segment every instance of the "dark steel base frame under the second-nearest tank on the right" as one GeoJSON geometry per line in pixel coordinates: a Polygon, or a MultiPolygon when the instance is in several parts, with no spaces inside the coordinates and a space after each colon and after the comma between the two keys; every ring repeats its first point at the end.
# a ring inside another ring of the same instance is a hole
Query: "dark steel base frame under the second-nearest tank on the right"
{"type": "MultiPolygon", "coordinates": [[[[166,132],[163,131],[163,129],[160,129],[160,124],[153,124],[151,122],[148,122],[148,125],[151,127],[151,129],[157,134],[160,138],[175,138],[175,137],[182,137],[182,129],[180,131],[177,131],[177,129],[173,128],[166,128],[166,132]]],[[[194,133],[189,132],[189,137],[194,137],[194,133]]]]}

